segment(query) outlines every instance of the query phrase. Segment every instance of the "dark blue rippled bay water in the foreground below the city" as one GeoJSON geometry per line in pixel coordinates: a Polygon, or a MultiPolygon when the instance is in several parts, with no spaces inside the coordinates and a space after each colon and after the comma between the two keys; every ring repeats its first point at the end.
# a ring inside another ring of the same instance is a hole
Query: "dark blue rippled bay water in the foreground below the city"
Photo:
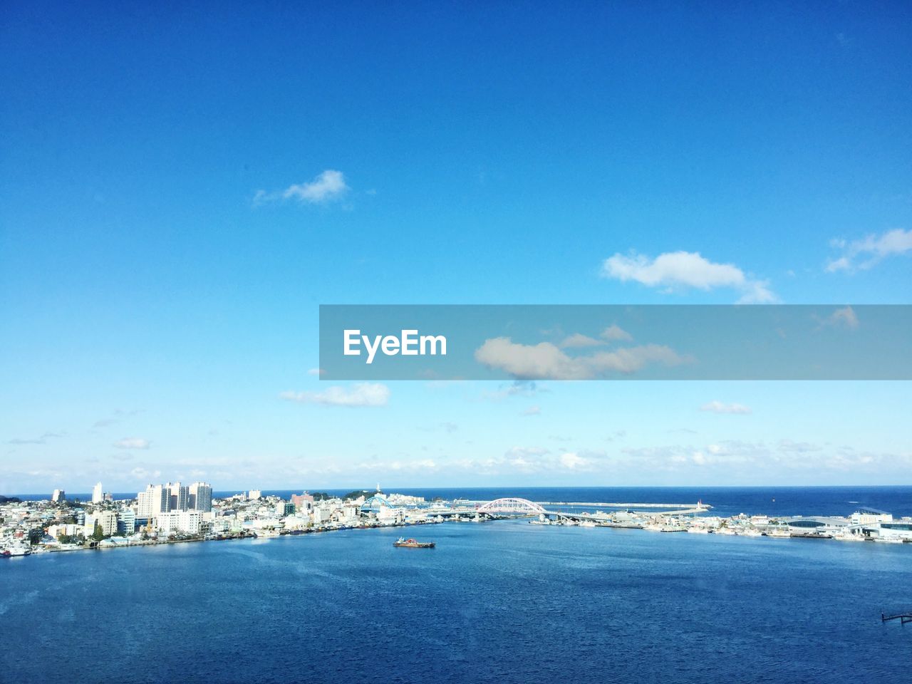
{"type": "Polygon", "coordinates": [[[912,544],[524,522],[0,564],[9,682],[896,684],[912,544]]]}

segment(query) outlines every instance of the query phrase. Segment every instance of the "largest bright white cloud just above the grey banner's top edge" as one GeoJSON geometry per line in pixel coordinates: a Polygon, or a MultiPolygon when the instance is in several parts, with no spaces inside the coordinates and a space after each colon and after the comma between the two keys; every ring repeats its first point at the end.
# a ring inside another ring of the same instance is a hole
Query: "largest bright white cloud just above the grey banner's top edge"
{"type": "Polygon", "coordinates": [[[748,277],[734,264],[715,264],[699,252],[667,252],[655,259],[636,252],[615,254],[602,264],[602,276],[668,290],[728,287],[741,291],[739,304],[776,301],[767,281],[748,277]]]}

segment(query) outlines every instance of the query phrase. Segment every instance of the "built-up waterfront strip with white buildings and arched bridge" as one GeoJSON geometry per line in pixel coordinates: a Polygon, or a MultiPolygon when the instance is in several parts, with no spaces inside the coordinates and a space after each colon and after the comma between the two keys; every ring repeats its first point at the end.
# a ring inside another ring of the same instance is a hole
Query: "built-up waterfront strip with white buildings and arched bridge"
{"type": "MultiPolygon", "coordinates": [[[[192,487],[206,492],[208,485],[196,483],[192,487]]],[[[140,492],[131,500],[99,496],[93,503],[66,499],[0,503],[0,557],[516,519],[532,525],[647,533],[912,544],[912,516],[895,518],[892,513],[865,506],[855,506],[844,516],[726,516],[715,513],[713,506],[702,500],[586,503],[502,497],[491,501],[427,501],[415,495],[384,493],[379,488],[376,492],[356,491],[342,496],[304,492],[292,494],[288,500],[256,490],[214,499],[201,494],[201,503],[196,503],[182,498],[187,489],[180,483],[150,485],[149,491],[177,492],[161,498],[169,506],[154,513],[148,510],[147,492],[140,492]],[[186,502],[206,510],[192,508],[186,502]]]]}

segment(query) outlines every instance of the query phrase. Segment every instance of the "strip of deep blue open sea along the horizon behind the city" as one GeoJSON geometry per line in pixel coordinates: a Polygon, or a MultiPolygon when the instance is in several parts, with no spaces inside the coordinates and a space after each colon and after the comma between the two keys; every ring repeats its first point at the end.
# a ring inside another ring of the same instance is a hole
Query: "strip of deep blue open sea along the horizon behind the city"
{"type": "MultiPolygon", "coordinates": [[[[264,490],[288,499],[303,490],[264,490]]],[[[314,490],[311,490],[314,491],[314,490]]],[[[320,490],[344,494],[350,490],[320,490]]],[[[451,487],[396,488],[400,492],[427,499],[470,499],[487,501],[503,496],[520,496],[532,501],[606,502],[606,503],[710,503],[712,513],[729,516],[751,515],[849,515],[859,505],[872,506],[896,516],[912,515],[912,486],[858,487],[451,487]]],[[[215,492],[230,496],[235,491],[215,492]]],[[[68,494],[85,501],[88,494],[68,494]]],[[[136,496],[136,492],[114,495],[116,499],[136,496]]],[[[49,499],[50,494],[20,494],[22,499],[49,499]]]]}

